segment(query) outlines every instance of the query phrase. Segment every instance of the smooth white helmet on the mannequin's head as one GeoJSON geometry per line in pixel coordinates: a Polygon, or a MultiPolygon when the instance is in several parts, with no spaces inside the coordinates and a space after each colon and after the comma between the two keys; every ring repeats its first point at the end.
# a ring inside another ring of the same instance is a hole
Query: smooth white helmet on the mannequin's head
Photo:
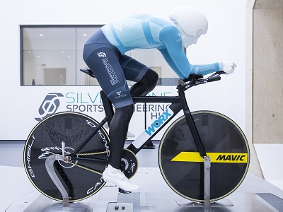
{"type": "Polygon", "coordinates": [[[202,35],[207,33],[207,17],[196,8],[188,6],[175,8],[169,14],[169,18],[173,23],[178,23],[187,35],[195,36],[199,30],[202,35]]]}

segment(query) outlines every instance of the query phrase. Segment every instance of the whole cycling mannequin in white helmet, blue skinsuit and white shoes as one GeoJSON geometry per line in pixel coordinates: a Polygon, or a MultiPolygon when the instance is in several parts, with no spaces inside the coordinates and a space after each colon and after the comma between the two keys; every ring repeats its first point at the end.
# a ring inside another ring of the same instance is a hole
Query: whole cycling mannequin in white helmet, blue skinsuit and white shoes
{"type": "Polygon", "coordinates": [[[83,49],[84,61],[115,107],[109,129],[110,158],[108,167],[103,172],[103,179],[128,192],[139,189],[120,170],[128,126],[134,112],[132,96],[146,95],[153,90],[158,74],[125,55],[125,52],[156,48],[183,80],[192,73],[206,75],[221,70],[229,74],[236,67],[231,61],[190,64],[183,47],[196,44],[200,35],[207,33],[207,18],[202,12],[190,7],[175,8],[169,18],[172,22],[151,15],[135,15],[116,20],[94,33],[83,49]],[[136,83],[128,88],[126,80],[136,83]]]}

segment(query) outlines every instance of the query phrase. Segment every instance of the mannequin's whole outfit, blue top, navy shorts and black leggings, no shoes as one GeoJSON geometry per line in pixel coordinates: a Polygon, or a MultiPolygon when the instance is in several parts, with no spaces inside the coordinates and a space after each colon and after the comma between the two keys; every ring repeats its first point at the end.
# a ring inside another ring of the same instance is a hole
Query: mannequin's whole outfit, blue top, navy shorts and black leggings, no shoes
{"type": "Polygon", "coordinates": [[[93,71],[104,93],[115,106],[110,124],[109,165],[120,169],[127,130],[134,112],[132,95],[146,95],[158,81],[157,73],[125,55],[131,49],[158,49],[182,79],[190,73],[205,75],[219,71],[219,64],[191,65],[183,52],[182,39],[173,23],[154,16],[138,15],[103,26],[86,42],[83,59],[93,71]],[[126,79],[134,81],[129,89],[126,79]]]}

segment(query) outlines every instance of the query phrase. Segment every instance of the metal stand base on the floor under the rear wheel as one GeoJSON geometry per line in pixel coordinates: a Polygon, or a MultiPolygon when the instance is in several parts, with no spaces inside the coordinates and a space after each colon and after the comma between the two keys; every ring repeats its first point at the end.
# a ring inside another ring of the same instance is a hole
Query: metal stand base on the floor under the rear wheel
{"type": "Polygon", "coordinates": [[[44,212],[55,212],[55,211],[76,211],[76,212],[86,212],[88,211],[88,206],[80,203],[69,204],[69,206],[63,206],[62,204],[54,204],[45,208],[44,212]]]}

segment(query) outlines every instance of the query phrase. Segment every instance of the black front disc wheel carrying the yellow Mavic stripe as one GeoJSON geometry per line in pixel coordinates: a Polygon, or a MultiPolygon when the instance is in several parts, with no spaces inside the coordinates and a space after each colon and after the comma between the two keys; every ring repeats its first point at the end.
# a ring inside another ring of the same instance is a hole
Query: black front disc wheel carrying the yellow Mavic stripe
{"type": "MultiPolygon", "coordinates": [[[[211,201],[216,201],[231,194],[246,176],[250,160],[248,143],[238,125],[223,114],[193,112],[192,117],[206,151],[209,153],[230,153],[222,154],[217,163],[212,163],[211,201]],[[219,131],[222,131],[222,134],[219,131]],[[244,163],[224,161],[229,157],[239,160],[240,156],[236,156],[240,155],[239,153],[246,154],[244,163]],[[220,159],[222,163],[219,163],[220,159]]],[[[158,151],[158,163],[163,178],[171,189],[186,199],[202,202],[204,201],[203,163],[189,162],[184,158],[182,161],[180,157],[171,161],[175,156],[180,156],[181,152],[187,152],[188,155],[197,152],[185,117],[180,117],[173,122],[164,134],[158,151]]]]}

